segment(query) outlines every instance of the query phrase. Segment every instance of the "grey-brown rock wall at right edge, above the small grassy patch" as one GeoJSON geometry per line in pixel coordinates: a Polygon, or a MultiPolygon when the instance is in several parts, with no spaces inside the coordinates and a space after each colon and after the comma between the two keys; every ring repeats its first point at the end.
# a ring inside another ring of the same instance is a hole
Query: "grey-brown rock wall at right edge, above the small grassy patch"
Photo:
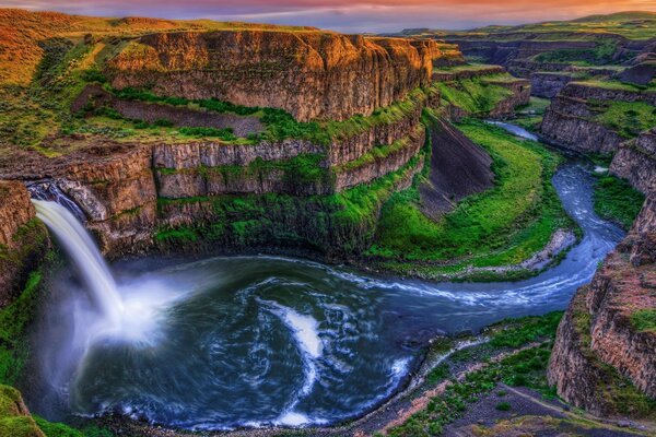
{"type": "Polygon", "coordinates": [[[624,178],[643,193],[656,192],[656,128],[621,144],[610,173],[624,178]]]}

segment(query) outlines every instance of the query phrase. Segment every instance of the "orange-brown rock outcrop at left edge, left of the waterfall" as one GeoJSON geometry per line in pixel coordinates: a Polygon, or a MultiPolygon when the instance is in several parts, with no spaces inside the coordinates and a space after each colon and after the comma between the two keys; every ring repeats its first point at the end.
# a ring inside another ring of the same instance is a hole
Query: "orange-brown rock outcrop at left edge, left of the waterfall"
{"type": "Polygon", "coordinates": [[[0,308],[20,293],[48,247],[30,193],[19,181],[0,181],[0,308]]]}

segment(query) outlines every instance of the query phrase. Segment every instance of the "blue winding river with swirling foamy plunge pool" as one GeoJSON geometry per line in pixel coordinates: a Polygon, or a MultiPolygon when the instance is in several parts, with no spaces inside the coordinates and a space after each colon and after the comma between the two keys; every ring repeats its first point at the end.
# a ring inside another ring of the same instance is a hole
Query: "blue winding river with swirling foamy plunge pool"
{"type": "Polygon", "coordinates": [[[583,239],[526,281],[382,279],[278,257],[143,259],[114,265],[126,316],[103,330],[65,269],[35,334],[42,381],[31,408],[188,429],[358,416],[399,388],[429,339],[566,307],[622,237],[593,211],[590,168],[570,161],[553,177],[583,239]]]}

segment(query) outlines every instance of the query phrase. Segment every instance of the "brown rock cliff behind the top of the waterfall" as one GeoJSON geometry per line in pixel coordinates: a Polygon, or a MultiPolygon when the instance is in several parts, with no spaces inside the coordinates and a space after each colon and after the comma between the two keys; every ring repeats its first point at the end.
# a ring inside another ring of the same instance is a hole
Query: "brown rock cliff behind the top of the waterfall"
{"type": "Polygon", "coordinates": [[[104,251],[120,255],[143,250],[152,238],[157,197],[151,162],[150,145],[98,140],[56,158],[0,160],[0,178],[54,181],[82,209],[104,251]]]}

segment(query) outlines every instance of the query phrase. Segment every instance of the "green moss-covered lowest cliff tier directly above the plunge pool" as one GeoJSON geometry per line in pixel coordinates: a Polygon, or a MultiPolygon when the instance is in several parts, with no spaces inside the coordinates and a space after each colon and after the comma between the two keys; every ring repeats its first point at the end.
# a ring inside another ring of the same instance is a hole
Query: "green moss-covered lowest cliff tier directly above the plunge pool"
{"type": "MultiPolygon", "coordinates": [[[[419,157],[414,157],[399,170],[372,184],[329,196],[267,193],[160,199],[160,209],[176,203],[206,203],[213,210],[213,220],[198,223],[192,228],[161,229],[155,238],[163,244],[176,244],[179,241],[175,238],[178,236],[176,231],[179,231],[187,243],[283,245],[329,253],[358,253],[371,244],[380,205],[391,196],[399,180],[414,169],[418,161],[419,157]],[[191,235],[196,239],[192,240],[191,235]]],[[[312,163],[312,167],[315,168],[316,163],[312,163]]]]}

